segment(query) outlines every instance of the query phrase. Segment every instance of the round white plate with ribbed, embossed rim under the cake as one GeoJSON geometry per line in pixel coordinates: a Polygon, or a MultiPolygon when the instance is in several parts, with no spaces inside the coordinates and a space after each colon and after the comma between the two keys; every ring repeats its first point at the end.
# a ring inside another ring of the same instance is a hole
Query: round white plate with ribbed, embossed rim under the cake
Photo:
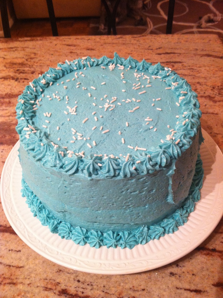
{"type": "Polygon", "coordinates": [[[201,200],[188,222],[174,234],[145,245],[96,249],[61,239],[42,226],[21,196],[22,169],[18,160],[19,142],[10,152],[1,179],[1,198],[6,217],[18,236],[34,251],[62,266],[89,273],[127,274],[155,269],[185,256],[215,229],[223,214],[223,156],[213,139],[203,130],[205,144],[201,158],[205,170],[201,200]]]}

